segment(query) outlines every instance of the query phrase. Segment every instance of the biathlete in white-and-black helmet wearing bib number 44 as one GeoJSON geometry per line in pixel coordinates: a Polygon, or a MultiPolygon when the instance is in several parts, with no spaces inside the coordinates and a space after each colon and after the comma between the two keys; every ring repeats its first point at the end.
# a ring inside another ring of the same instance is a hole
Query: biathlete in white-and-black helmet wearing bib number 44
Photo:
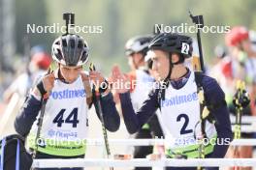
{"type": "Polygon", "coordinates": [[[16,117],[16,132],[27,137],[28,148],[37,151],[36,158],[83,157],[88,138],[88,109],[93,103],[97,116],[102,116],[94,91],[91,91],[91,83],[96,88],[105,87],[99,88],[105,127],[110,131],[117,130],[120,118],[102,74],[99,71],[82,71],[88,60],[87,42],[75,34],[63,35],[52,44],[52,58],[57,63],[57,70],[48,72],[32,89],[16,117]],[[100,86],[103,82],[105,86],[100,86]],[[46,94],[48,101],[40,137],[35,141],[46,94]]]}

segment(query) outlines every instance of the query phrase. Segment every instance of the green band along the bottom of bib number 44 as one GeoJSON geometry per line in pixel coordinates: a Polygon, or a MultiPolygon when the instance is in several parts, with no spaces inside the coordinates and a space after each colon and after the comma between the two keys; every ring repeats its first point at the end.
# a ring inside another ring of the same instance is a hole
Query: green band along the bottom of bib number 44
{"type": "MultiPolygon", "coordinates": [[[[31,149],[36,149],[35,135],[29,135],[27,137],[27,145],[31,149]]],[[[85,155],[86,140],[77,141],[65,141],[54,139],[38,139],[38,143],[42,144],[38,146],[38,151],[51,156],[81,156],[85,155]],[[42,142],[41,142],[42,141],[42,142]]]]}

